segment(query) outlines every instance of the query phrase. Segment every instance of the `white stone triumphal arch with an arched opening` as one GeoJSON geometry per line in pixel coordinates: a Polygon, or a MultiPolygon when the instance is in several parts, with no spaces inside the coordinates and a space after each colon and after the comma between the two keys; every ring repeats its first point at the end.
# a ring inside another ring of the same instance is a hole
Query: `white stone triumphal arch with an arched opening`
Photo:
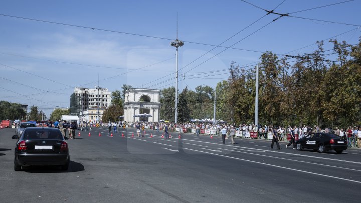
{"type": "Polygon", "coordinates": [[[160,90],[129,89],[124,95],[124,121],[158,122],[160,113],[160,90]],[[134,115],[147,113],[152,117],[139,118],[134,115]]]}

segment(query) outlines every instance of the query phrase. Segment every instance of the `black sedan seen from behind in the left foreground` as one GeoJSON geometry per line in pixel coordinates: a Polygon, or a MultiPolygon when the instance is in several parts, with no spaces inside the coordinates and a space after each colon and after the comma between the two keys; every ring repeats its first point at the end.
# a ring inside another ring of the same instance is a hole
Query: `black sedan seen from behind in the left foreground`
{"type": "Polygon", "coordinates": [[[70,155],[68,143],[58,128],[25,128],[15,148],[14,170],[29,165],[60,165],[68,170],[70,155]]]}

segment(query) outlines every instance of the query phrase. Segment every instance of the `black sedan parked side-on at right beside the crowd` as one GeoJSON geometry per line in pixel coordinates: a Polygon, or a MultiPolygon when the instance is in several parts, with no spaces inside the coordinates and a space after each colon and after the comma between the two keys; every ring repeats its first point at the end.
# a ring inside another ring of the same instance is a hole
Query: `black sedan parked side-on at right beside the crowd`
{"type": "Polygon", "coordinates": [[[347,142],[340,136],[331,133],[311,133],[296,141],[296,149],[313,149],[324,153],[335,150],[338,154],[347,149],[347,142]]]}

